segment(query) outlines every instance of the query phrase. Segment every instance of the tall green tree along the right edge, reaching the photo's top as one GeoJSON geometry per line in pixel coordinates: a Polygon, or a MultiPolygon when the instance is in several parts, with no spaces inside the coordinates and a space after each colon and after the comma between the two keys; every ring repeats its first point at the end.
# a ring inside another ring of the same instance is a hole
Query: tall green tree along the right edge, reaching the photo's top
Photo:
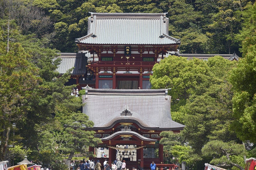
{"type": "Polygon", "coordinates": [[[231,71],[230,76],[234,91],[232,103],[235,120],[232,128],[240,139],[253,143],[256,142],[256,13],[253,10],[255,7],[254,3],[244,11],[244,25],[248,26],[241,32],[241,36],[246,37],[242,44],[243,58],[231,71]]]}

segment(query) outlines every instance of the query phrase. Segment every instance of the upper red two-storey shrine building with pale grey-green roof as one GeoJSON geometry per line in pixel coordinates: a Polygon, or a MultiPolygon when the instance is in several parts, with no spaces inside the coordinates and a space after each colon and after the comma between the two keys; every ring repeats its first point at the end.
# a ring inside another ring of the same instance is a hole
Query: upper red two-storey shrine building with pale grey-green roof
{"type": "Polygon", "coordinates": [[[154,64],[175,53],[180,40],[168,35],[165,13],[91,13],[88,35],[76,43],[91,55],[87,77],[95,84],[90,87],[149,89],[154,64]]]}

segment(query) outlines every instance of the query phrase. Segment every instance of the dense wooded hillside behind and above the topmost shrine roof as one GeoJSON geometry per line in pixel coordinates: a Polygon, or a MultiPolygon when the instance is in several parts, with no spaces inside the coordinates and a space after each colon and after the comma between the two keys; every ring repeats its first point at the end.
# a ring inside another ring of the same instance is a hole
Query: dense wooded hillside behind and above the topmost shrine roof
{"type": "MultiPolygon", "coordinates": [[[[249,0],[2,0],[1,16],[24,35],[45,39],[50,48],[77,52],[76,38],[87,35],[89,12],[168,13],[169,35],[181,39],[180,53],[239,53],[243,11],[249,0]]],[[[240,55],[241,56],[241,55],[240,55]]]]}

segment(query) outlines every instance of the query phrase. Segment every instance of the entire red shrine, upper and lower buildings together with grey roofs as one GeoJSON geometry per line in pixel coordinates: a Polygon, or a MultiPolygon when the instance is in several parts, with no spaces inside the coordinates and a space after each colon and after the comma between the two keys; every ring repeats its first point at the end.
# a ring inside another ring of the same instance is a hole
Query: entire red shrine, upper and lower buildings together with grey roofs
{"type": "Polygon", "coordinates": [[[154,64],[180,44],[168,35],[165,13],[91,13],[88,35],[76,43],[81,61],[87,58],[85,79],[93,80],[83,113],[94,122],[86,130],[102,141],[90,148],[94,159],[126,160],[130,169],[164,163],[159,134],[184,128],[172,120],[167,90],[150,89],[154,64]]]}

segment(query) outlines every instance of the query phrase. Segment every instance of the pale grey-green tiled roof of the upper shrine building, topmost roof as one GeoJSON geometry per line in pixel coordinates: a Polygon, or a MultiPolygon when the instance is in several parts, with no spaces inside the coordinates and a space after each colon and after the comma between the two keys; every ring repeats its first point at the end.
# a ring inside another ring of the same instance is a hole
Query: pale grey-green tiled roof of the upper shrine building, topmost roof
{"type": "Polygon", "coordinates": [[[179,44],[168,35],[164,13],[91,13],[88,35],[77,38],[84,44],[179,44]],[[159,36],[163,36],[160,38],[159,36]]]}

